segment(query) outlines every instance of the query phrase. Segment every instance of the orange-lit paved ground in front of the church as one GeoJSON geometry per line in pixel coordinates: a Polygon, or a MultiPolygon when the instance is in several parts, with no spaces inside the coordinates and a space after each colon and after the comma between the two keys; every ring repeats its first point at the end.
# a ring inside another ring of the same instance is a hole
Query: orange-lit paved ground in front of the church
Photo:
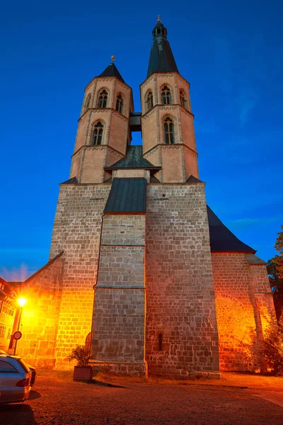
{"type": "Polygon", "coordinates": [[[223,378],[112,379],[108,386],[72,382],[69,372],[40,372],[27,402],[0,406],[0,424],[283,424],[283,378],[231,373],[223,378]]]}

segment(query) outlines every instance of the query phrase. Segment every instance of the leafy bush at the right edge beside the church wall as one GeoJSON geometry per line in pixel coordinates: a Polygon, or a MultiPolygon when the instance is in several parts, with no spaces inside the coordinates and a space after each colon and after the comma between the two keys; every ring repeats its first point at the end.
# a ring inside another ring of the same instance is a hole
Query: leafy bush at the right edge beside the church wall
{"type": "Polygon", "coordinates": [[[263,355],[275,375],[283,375],[283,319],[270,323],[263,336],[263,355]]]}

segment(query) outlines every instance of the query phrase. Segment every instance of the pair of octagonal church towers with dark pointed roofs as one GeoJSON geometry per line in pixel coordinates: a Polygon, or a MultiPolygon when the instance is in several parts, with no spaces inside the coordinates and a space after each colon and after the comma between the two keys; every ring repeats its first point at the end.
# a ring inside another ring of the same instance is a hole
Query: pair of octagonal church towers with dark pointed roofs
{"type": "Polygon", "coordinates": [[[86,87],[71,165],[78,183],[111,179],[120,167],[116,163],[129,155],[132,131],[141,131],[142,157],[151,163],[144,169],[151,168],[151,177],[160,183],[198,178],[190,84],[178,72],[161,22],[153,35],[147,78],[140,86],[141,113],[134,113],[132,89],[113,62],[86,87]]]}

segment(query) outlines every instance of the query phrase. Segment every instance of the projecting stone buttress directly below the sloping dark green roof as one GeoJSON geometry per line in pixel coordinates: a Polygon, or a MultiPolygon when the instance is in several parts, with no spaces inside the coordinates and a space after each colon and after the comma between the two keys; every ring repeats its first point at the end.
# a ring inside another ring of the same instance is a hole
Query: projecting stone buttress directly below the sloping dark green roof
{"type": "Polygon", "coordinates": [[[92,356],[118,374],[145,374],[145,215],[105,215],[93,311],[92,356]],[[130,362],[130,363],[129,363],[130,362]]]}

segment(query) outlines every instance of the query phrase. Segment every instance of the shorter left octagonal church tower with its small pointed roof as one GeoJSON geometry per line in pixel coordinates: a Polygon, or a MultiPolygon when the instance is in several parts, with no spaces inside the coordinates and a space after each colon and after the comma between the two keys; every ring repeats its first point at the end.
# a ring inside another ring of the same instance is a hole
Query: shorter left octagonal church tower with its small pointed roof
{"type": "Polygon", "coordinates": [[[129,116],[134,111],[132,89],[112,62],[86,86],[79,118],[71,183],[103,183],[105,171],[127,152],[131,140],[129,116]],[[76,179],[76,181],[75,181],[76,179]]]}

